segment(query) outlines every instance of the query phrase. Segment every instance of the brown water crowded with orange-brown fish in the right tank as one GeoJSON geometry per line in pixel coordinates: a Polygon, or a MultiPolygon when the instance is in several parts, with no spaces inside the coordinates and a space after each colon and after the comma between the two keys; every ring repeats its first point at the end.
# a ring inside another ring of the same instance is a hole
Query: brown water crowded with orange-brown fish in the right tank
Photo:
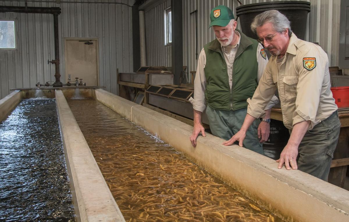
{"type": "Polygon", "coordinates": [[[68,103],[126,221],[281,221],[103,104],[68,103]]]}

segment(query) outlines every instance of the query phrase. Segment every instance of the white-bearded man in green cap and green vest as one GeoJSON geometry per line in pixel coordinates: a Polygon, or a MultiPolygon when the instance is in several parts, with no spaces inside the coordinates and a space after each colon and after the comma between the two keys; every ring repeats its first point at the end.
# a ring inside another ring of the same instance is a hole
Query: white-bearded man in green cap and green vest
{"type": "MultiPolygon", "coordinates": [[[[246,100],[253,96],[268,62],[260,43],[236,29],[237,22],[230,8],[219,5],[211,10],[210,26],[217,39],[200,52],[194,81],[194,129],[190,140],[205,129],[201,114],[206,109],[211,132],[229,140],[241,128],[247,113],[246,100]]],[[[253,122],[246,133],[244,147],[263,154],[262,142],[268,140],[270,110],[278,102],[274,96],[266,107],[263,121],[253,122]],[[260,138],[260,140],[259,140],[260,138]]]]}

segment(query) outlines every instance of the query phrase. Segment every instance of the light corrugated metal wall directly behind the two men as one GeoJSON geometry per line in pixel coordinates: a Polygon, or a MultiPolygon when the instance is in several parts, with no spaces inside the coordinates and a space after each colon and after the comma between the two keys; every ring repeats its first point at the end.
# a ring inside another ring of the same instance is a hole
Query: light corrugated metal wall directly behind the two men
{"type": "MultiPolygon", "coordinates": [[[[240,0],[243,5],[269,2],[271,0],[240,0]]],[[[338,66],[339,55],[339,21],[340,0],[308,0],[311,3],[309,13],[309,41],[319,42],[326,51],[330,66],[338,66]]],[[[209,26],[209,13],[217,5],[232,7],[236,12],[239,3],[236,0],[192,0],[183,1],[183,65],[187,66],[187,72],[196,71],[197,60],[195,58],[195,17],[189,15],[195,9],[198,10],[198,54],[202,47],[212,41],[215,36],[209,26]]],[[[238,25],[238,28],[240,26],[238,25]]]]}

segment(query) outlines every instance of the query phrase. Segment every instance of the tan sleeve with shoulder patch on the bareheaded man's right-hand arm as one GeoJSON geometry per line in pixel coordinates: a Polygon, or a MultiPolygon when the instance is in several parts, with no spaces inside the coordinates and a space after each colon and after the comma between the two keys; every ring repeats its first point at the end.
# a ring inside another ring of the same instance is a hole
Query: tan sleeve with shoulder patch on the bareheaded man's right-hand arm
{"type": "Polygon", "coordinates": [[[299,71],[296,110],[292,116],[292,125],[310,120],[309,129],[312,129],[320,122],[315,118],[319,107],[325,68],[328,66],[328,58],[321,55],[316,47],[299,51],[301,53],[296,56],[296,66],[299,71]],[[304,58],[315,58],[315,68],[312,70],[305,69],[303,65],[304,58]]]}

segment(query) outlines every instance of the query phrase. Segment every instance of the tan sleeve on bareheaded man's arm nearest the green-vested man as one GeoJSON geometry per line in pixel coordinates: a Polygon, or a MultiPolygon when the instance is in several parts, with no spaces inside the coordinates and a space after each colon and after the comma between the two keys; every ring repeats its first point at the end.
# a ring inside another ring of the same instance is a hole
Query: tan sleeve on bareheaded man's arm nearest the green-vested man
{"type": "Polygon", "coordinates": [[[260,118],[265,114],[264,110],[267,110],[266,107],[272,100],[277,89],[273,81],[270,65],[271,62],[269,61],[261,79],[259,80],[259,84],[253,94],[252,99],[247,99],[247,113],[254,118],[260,118]]]}

